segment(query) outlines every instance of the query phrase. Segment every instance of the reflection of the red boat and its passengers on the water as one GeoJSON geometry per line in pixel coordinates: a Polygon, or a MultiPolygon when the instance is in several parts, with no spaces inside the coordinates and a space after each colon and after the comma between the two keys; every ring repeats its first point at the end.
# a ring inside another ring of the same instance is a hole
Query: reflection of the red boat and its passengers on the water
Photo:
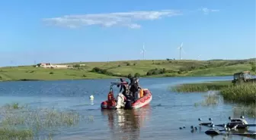
{"type": "Polygon", "coordinates": [[[112,139],[136,140],[142,127],[149,120],[151,107],[139,108],[137,110],[102,110],[107,116],[112,139]]]}

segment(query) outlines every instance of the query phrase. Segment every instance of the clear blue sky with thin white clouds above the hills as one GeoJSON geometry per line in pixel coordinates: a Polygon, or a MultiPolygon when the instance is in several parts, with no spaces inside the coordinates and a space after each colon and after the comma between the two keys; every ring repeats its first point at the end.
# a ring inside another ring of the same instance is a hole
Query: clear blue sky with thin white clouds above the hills
{"type": "Polygon", "coordinates": [[[255,0],[0,2],[0,66],[256,58],[255,0]]]}

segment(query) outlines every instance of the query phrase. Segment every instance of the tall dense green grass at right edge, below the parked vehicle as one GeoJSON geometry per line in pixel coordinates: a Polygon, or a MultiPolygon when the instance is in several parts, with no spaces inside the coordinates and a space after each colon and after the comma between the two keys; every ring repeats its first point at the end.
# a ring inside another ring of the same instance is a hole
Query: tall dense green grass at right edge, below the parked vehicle
{"type": "Polygon", "coordinates": [[[256,84],[244,83],[237,86],[228,86],[221,90],[221,95],[226,101],[254,104],[256,101],[256,84]]]}

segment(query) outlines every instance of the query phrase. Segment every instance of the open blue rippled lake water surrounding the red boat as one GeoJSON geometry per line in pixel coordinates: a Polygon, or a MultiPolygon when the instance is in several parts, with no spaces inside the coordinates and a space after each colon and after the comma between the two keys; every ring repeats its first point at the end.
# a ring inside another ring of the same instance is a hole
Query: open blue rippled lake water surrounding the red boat
{"type": "MultiPolygon", "coordinates": [[[[151,104],[138,110],[110,111],[101,111],[100,104],[107,99],[110,82],[116,79],[0,82],[0,104],[18,102],[30,107],[54,107],[93,117],[92,122],[82,121],[78,126],[56,131],[53,136],[56,140],[212,139],[204,134],[207,128],[202,128],[202,132],[190,132],[190,126],[197,126],[199,117],[203,120],[212,117],[214,123],[226,123],[229,116],[234,117],[233,106],[196,107],[194,104],[203,100],[203,94],[178,94],[170,92],[168,86],[226,79],[231,80],[232,76],[141,78],[140,85],[152,92],[151,104]],[[93,102],[89,100],[90,95],[94,95],[93,102]],[[179,129],[181,126],[186,128],[179,129]]],[[[235,114],[235,117],[239,115],[235,114]]],[[[254,123],[253,119],[248,121],[254,123]]],[[[222,135],[214,137],[223,138],[222,135]]],[[[229,139],[242,137],[232,136],[229,139]]]]}

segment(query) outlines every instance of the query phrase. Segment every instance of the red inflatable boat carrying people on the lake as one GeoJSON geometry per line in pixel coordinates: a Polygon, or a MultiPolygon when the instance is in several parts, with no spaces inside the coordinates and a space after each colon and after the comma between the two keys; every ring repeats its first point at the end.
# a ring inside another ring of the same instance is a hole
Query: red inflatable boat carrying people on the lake
{"type": "MultiPolygon", "coordinates": [[[[115,85],[126,85],[128,82],[111,82],[110,86],[110,92],[107,95],[107,101],[101,102],[101,109],[114,109],[117,106],[117,101],[114,98],[114,92],[113,92],[113,86],[115,85]]],[[[137,99],[135,102],[131,103],[130,109],[136,109],[139,107],[143,107],[152,101],[152,93],[149,91],[149,89],[141,89],[139,92],[140,98],[137,99]]],[[[127,109],[127,108],[124,108],[127,109]]]]}

